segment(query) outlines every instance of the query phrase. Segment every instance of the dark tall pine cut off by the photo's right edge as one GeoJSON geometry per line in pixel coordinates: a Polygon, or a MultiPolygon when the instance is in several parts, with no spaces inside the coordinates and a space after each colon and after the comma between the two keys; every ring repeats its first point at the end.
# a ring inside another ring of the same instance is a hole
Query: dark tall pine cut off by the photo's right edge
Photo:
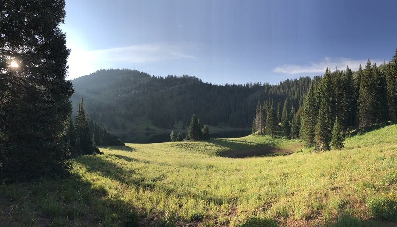
{"type": "Polygon", "coordinates": [[[387,100],[390,119],[397,121],[397,48],[386,74],[387,100]]]}

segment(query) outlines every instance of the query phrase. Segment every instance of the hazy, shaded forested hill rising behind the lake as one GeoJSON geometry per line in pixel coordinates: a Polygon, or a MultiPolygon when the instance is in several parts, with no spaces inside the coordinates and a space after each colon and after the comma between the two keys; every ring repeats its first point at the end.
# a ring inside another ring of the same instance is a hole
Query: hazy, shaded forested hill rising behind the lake
{"type": "Polygon", "coordinates": [[[214,137],[239,137],[251,131],[258,99],[298,107],[309,77],[279,85],[214,85],[191,76],[154,77],[136,70],[99,70],[72,80],[74,109],[81,97],[92,120],[124,142],[165,142],[171,130],[186,132],[192,114],[210,125],[214,137]]]}

